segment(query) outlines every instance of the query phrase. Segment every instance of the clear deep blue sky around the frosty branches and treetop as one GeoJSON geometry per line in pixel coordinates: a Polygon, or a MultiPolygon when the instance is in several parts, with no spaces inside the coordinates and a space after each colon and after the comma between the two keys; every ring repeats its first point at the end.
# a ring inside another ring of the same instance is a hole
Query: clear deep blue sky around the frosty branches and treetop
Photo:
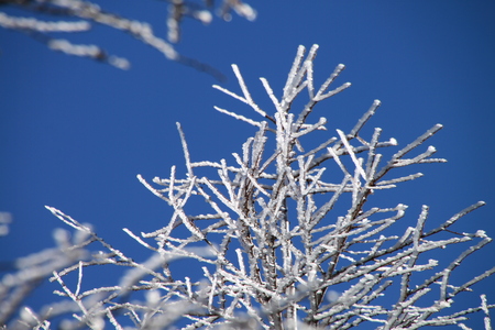
{"type": "MultiPolygon", "coordinates": [[[[484,229],[495,237],[495,2],[250,3],[258,12],[254,22],[237,15],[209,26],[186,21],[177,50],[220,69],[229,78],[220,85],[231,90],[239,87],[230,64],[238,64],[255,100],[267,105],[257,78],[280,91],[297,46],[319,44],[316,80],[343,63],[338,81],[352,82],[318,108],[329,129],[349,131],[374,99],[383,105],[369,132],[380,127],[400,145],[436,123],[444,125],[430,143],[449,163],[414,168],[425,177],[394,193],[409,206],[410,221],[421,205],[431,207],[431,228],[485,200],[457,229],[484,229]]],[[[163,2],[101,6],[148,21],[165,35],[163,2]]],[[[13,216],[10,235],[0,240],[2,261],[53,245],[54,228],[64,224],[45,205],[92,223],[124,251],[141,249],[121,229],[152,231],[166,223],[170,209],[135,176],[165,177],[172,165],[184,174],[175,122],[183,124],[194,161],[230,160],[254,132],[213,110],[246,108],[212,89],[219,82],[211,76],[106,28],[67,37],[101,45],[132,67],[123,72],[54,53],[26,35],[0,30],[0,211],[13,216]]],[[[470,260],[468,275],[493,266],[493,245],[470,260]]],[[[480,292],[462,302],[477,306],[481,293],[494,302],[494,284],[477,285],[480,292]]]]}

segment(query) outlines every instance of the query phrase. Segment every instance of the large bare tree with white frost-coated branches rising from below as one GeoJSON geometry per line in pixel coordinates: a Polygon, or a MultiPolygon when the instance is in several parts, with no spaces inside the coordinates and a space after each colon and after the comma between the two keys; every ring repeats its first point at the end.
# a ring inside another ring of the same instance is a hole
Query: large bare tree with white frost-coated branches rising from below
{"type": "Polygon", "coordinates": [[[338,65],[320,87],[314,85],[317,50],[305,57],[298,48],[280,95],[261,78],[271,110],[254,101],[235,65],[240,92],[215,86],[254,110],[255,117],[216,107],[256,129],[231,157],[195,161],[177,124],[186,176],[178,177],[175,166],[153,183],[138,176],[173,208],[172,218],[153,232],[124,229],[150,250],[145,262],[47,207],[76,234],[57,231],[57,249],[19,261],[21,270],[3,277],[0,322],[9,329],[53,329],[53,320],[62,329],[469,329],[463,321],[482,311],[485,329],[492,329],[488,310],[495,305],[484,295],[477,307],[447,309],[495,272],[465,283],[451,276],[492,241],[483,230],[455,231],[457,221],[484,202],[433,229],[427,229],[427,206],[406,215],[403,204],[372,205],[372,195],[422,176],[396,176],[396,168],[444,162],[432,157],[433,146],[424,146],[442,127],[404,147],[383,140],[380,128],[366,136],[362,129],[381,105],[375,100],[350,132],[328,131],[327,119],[314,119],[312,112],[350,84],[333,87],[344,69],[338,65]],[[321,135],[318,131],[327,138],[315,144],[307,136],[321,135]],[[382,150],[388,148],[394,152],[386,158],[382,150]],[[405,219],[411,226],[402,226],[405,219]],[[440,266],[435,251],[451,245],[462,252],[440,266]],[[179,258],[197,272],[177,274],[179,258]],[[85,272],[109,265],[127,268],[114,285],[81,289],[85,272]],[[75,285],[65,280],[69,274],[77,275],[75,285]],[[63,301],[15,315],[23,295],[45,276],[59,283],[63,301]]]}

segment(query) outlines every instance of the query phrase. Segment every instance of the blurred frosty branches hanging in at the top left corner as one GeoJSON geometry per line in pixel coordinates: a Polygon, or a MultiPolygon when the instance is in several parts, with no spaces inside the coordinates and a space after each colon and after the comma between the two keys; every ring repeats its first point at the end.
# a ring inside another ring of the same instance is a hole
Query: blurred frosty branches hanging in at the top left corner
{"type": "Polygon", "coordinates": [[[87,32],[94,24],[101,24],[129,33],[142,43],[157,50],[170,61],[191,66],[222,80],[223,75],[216,68],[198,59],[186,57],[176,51],[174,44],[180,40],[180,26],[184,19],[189,18],[209,24],[213,19],[213,13],[224,21],[230,21],[233,11],[253,21],[256,18],[255,10],[240,0],[222,0],[218,4],[212,0],[196,2],[166,0],[165,2],[168,3],[167,40],[156,35],[153,28],[146,22],[108,12],[96,2],[82,0],[0,0],[1,9],[14,8],[28,13],[26,16],[19,16],[0,11],[0,26],[25,33],[51,50],[128,69],[131,65],[130,62],[124,57],[112,55],[105,46],[74,44],[69,40],[54,35],[61,32],[87,32]]]}

